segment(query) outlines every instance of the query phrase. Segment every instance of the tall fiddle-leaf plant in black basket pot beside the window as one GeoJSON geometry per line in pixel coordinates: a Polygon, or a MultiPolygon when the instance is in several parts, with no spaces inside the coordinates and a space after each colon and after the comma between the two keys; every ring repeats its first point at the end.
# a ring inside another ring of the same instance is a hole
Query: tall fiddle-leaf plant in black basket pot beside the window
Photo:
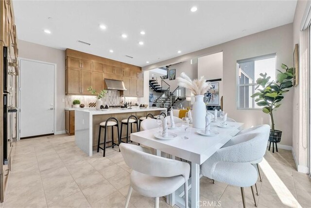
{"type": "MultiPolygon", "coordinates": [[[[258,86],[255,90],[256,92],[251,97],[256,98],[255,102],[257,105],[262,106],[262,111],[270,115],[271,118],[271,130],[270,130],[270,145],[271,142],[277,143],[280,142],[282,131],[275,129],[275,123],[273,118],[273,111],[278,108],[281,104],[280,102],[284,98],[284,93],[288,92],[290,87],[293,87],[293,78],[294,78],[294,68],[288,68],[285,64],[281,65],[281,68],[285,70],[284,72],[281,70],[277,70],[279,73],[276,75],[276,82],[269,82],[270,76],[267,77],[267,73],[259,75],[261,78],[256,80],[258,86]]],[[[270,146],[269,146],[270,150],[270,146]]],[[[277,151],[277,146],[276,146],[277,151]]],[[[274,152],[274,145],[273,145],[274,152]]]]}

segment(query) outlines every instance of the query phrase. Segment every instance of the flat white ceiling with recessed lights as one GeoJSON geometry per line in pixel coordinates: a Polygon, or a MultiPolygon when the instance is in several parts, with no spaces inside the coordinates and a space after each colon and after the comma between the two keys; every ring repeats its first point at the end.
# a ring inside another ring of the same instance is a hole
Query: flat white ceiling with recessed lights
{"type": "Polygon", "coordinates": [[[21,40],[143,67],[291,23],[296,0],[13,0],[13,4],[21,40]],[[190,12],[193,5],[196,12],[190,12]],[[99,24],[107,28],[101,30],[99,24]],[[44,29],[52,33],[45,34],[44,29]],[[140,35],[142,30],[145,35],[140,35]]]}

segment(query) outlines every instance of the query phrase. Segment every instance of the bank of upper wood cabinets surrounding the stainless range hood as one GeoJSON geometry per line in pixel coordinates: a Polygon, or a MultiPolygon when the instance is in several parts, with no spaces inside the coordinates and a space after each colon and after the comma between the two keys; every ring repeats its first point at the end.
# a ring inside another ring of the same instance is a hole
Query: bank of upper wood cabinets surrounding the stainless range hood
{"type": "Polygon", "coordinates": [[[105,87],[104,79],[112,79],[124,82],[127,89],[124,96],[143,96],[140,67],[71,49],[67,49],[65,55],[66,94],[89,95],[88,87],[99,92],[105,87]]]}

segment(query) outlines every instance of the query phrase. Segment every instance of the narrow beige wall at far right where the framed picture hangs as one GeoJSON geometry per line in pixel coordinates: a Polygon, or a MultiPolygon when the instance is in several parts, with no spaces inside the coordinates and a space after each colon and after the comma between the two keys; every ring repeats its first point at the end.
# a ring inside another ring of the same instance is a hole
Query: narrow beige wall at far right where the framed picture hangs
{"type": "MultiPolygon", "coordinates": [[[[294,51],[294,45],[300,43],[300,23],[302,16],[304,14],[305,8],[306,8],[307,1],[305,0],[298,0],[297,1],[297,6],[296,6],[296,11],[295,11],[295,16],[294,16],[294,23],[293,23],[293,45],[292,45],[292,51],[294,51]]],[[[299,47],[301,49],[301,47],[299,47]]],[[[299,54],[301,52],[299,51],[299,54]]],[[[300,56],[301,59],[301,56],[300,56]]],[[[302,63],[302,61],[299,61],[302,63]]],[[[302,68],[300,67],[300,72],[302,73],[302,68]]],[[[301,77],[299,77],[301,79],[301,77]]],[[[301,83],[301,81],[299,81],[301,83]]],[[[303,138],[303,135],[299,131],[301,126],[299,126],[299,122],[301,120],[302,114],[306,112],[301,112],[301,103],[299,102],[300,96],[307,96],[301,91],[301,84],[298,85],[297,87],[294,87],[294,103],[293,103],[293,152],[295,156],[295,160],[297,163],[297,168],[298,171],[300,171],[299,166],[301,166],[304,170],[306,170],[306,167],[308,167],[308,152],[307,152],[307,139],[303,138]],[[302,144],[302,139],[304,139],[304,145],[302,144]]]]}

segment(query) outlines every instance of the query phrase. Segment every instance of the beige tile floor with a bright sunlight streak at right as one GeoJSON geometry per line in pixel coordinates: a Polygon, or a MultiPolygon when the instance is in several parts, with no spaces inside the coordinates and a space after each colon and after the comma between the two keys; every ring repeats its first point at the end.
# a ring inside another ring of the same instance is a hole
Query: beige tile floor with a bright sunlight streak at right
{"type": "MultiPolygon", "coordinates": [[[[21,140],[13,153],[4,208],[122,208],[131,169],[118,148],[107,149],[106,157],[86,156],[74,144],[74,136],[57,135],[21,140]]],[[[291,151],[267,151],[259,164],[258,207],[311,207],[311,179],[295,170],[291,151]]],[[[240,188],[202,177],[201,207],[242,207],[240,188]]],[[[246,206],[254,207],[250,188],[245,188],[246,206]]],[[[154,199],[135,191],[130,207],[152,208],[154,199]]],[[[161,198],[160,207],[170,207],[161,198]]]]}

